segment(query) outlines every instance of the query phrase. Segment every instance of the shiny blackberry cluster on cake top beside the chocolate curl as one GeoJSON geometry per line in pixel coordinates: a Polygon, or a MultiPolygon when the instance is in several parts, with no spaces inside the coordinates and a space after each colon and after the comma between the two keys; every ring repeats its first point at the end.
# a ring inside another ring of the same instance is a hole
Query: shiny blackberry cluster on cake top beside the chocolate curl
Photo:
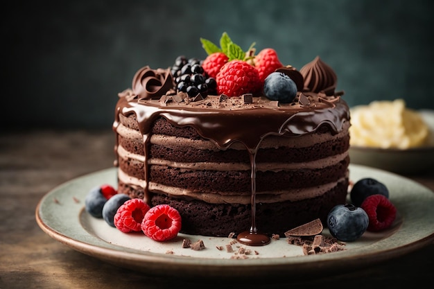
{"type": "Polygon", "coordinates": [[[217,94],[217,82],[205,73],[202,60],[198,58],[186,58],[180,55],[175,59],[171,67],[171,73],[175,79],[177,92],[185,92],[189,97],[207,96],[217,94]]]}

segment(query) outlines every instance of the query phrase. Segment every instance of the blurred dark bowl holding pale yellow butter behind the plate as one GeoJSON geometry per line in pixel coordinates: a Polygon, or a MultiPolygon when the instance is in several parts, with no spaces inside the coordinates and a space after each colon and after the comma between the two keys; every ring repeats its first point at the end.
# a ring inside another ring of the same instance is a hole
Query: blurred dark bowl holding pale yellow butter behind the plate
{"type": "Polygon", "coordinates": [[[422,118],[431,128],[428,146],[407,150],[366,148],[351,146],[351,164],[361,164],[399,174],[415,174],[434,169],[434,111],[420,110],[422,118]]]}

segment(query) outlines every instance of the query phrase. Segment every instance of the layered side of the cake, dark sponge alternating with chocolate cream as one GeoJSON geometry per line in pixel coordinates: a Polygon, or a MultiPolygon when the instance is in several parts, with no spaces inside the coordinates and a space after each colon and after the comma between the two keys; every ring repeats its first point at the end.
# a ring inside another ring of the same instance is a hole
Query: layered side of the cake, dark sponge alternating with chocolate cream
{"type": "MultiPolygon", "coordinates": [[[[336,110],[329,114],[329,119],[316,124],[312,132],[295,135],[295,130],[288,129],[281,133],[282,125],[275,125],[275,131],[271,130],[268,137],[258,143],[257,225],[266,229],[267,234],[283,234],[288,227],[309,222],[313,217],[324,220],[331,207],[345,202],[349,121],[343,113],[339,116],[343,121],[329,125],[336,113],[341,113],[336,106],[346,111],[345,102],[341,103],[339,98],[333,100],[330,107],[336,110]]],[[[302,107],[298,106],[288,105],[291,108],[286,110],[282,123],[300,112],[302,107]]],[[[227,236],[248,227],[252,214],[248,146],[233,141],[222,149],[216,141],[202,137],[193,125],[173,125],[165,118],[167,104],[161,106],[155,117],[145,146],[141,124],[137,121],[137,115],[144,112],[132,112],[134,105],[125,107],[122,110],[127,113],[119,114],[116,127],[120,192],[132,198],[145,198],[151,205],[171,204],[182,212],[182,232],[185,233],[227,236]],[[148,153],[147,180],[144,177],[145,150],[148,153]]],[[[211,110],[205,107],[202,110],[211,110]]],[[[146,105],[141,109],[146,109],[146,105]]],[[[232,113],[231,110],[226,112],[232,113]]],[[[220,110],[219,117],[224,118],[224,115],[225,110],[220,110]]],[[[302,130],[300,123],[294,127],[302,130]]]]}

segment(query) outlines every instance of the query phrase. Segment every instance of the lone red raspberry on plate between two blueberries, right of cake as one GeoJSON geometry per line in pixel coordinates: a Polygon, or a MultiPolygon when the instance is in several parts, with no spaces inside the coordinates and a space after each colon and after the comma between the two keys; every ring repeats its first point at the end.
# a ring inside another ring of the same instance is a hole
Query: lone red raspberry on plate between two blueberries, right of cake
{"type": "Polygon", "coordinates": [[[392,225],[397,216],[397,209],[384,195],[376,194],[367,197],[361,204],[370,219],[367,231],[381,231],[392,225]]]}

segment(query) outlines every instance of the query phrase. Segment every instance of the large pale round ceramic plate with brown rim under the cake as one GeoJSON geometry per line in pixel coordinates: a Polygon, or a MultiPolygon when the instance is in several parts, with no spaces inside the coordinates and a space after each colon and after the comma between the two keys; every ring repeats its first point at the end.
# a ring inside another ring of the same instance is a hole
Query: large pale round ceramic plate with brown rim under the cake
{"type": "MultiPolygon", "coordinates": [[[[351,165],[352,181],[375,177],[388,186],[390,200],[398,216],[387,231],[366,232],[347,243],[345,250],[304,256],[302,247],[290,245],[286,238],[266,246],[232,244],[234,239],[179,234],[175,240],[159,243],[144,234],[124,234],[84,209],[85,196],[94,186],[116,184],[116,170],[110,168],[78,177],[47,193],[36,208],[36,220],[46,234],[78,252],[94,256],[123,268],[152,276],[182,278],[303,277],[345,272],[391,259],[419,249],[434,239],[434,193],[410,179],[383,170],[351,165]],[[182,241],[202,240],[205,249],[182,248],[182,241]],[[238,248],[251,254],[237,259],[238,248]],[[313,273],[314,272],[314,273],[313,273]]],[[[288,228],[291,229],[291,228],[288,228]]],[[[322,232],[330,236],[327,229],[322,232]]]]}

